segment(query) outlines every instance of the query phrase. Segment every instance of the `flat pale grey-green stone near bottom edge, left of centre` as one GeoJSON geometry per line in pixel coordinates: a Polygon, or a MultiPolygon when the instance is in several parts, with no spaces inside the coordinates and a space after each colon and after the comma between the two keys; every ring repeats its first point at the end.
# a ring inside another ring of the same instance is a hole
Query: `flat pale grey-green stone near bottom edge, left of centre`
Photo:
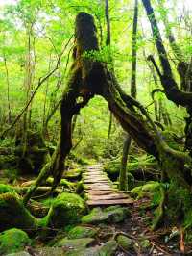
{"type": "Polygon", "coordinates": [[[88,245],[94,242],[92,238],[84,238],[84,239],[60,239],[58,242],[54,244],[56,247],[62,247],[65,249],[84,249],[88,245]]]}

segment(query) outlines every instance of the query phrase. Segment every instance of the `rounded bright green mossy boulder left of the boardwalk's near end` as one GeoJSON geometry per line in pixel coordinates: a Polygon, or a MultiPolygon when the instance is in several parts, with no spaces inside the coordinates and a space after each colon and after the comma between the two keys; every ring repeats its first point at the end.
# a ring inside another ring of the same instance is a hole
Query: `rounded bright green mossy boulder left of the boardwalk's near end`
{"type": "Polygon", "coordinates": [[[46,224],[55,228],[81,222],[85,212],[84,200],[75,193],[62,192],[52,201],[52,207],[45,217],[46,224]]]}

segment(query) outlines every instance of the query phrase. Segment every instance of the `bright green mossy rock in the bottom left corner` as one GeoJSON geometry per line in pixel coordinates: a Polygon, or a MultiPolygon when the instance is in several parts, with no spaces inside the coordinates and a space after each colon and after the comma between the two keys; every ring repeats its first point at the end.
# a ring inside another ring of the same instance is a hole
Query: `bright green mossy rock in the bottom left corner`
{"type": "Polygon", "coordinates": [[[0,233],[0,255],[22,251],[30,244],[30,238],[20,229],[12,228],[0,233]]]}

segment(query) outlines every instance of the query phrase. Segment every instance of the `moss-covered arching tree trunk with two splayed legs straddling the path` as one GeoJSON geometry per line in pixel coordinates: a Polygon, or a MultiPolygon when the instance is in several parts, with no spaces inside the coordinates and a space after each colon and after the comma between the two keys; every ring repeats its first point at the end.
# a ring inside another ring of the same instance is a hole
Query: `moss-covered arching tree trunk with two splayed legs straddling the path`
{"type": "MultiPolygon", "coordinates": [[[[41,170],[35,185],[24,197],[24,202],[27,203],[36,188],[48,175],[54,176],[54,188],[59,183],[64,160],[72,146],[72,117],[78,114],[95,94],[103,96],[108,101],[109,110],[134,141],[156,157],[169,177],[171,185],[173,184],[174,188],[177,188],[177,192],[184,192],[185,198],[191,199],[191,184],[182,172],[185,163],[191,164],[191,158],[183,152],[171,149],[166,144],[145,108],[121,90],[114,73],[108,70],[106,64],[84,56],[84,52],[97,52],[98,50],[93,17],[88,13],[79,13],[76,17],[74,64],[70,70],[71,76],[64,90],[60,108],[60,140],[50,163],[41,170]]],[[[179,211],[177,216],[180,216],[182,207],[182,219],[186,220],[191,211],[191,207],[188,206],[189,199],[186,202],[182,196],[174,197],[171,188],[168,198],[172,198],[175,205],[180,206],[177,209],[174,207],[179,211]]],[[[173,210],[169,202],[168,199],[167,207],[173,210]]]]}

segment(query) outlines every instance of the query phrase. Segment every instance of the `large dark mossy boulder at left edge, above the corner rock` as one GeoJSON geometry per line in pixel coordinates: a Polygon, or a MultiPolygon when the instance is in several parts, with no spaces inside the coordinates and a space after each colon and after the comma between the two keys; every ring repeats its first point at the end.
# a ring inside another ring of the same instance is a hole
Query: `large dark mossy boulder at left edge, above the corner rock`
{"type": "Polygon", "coordinates": [[[12,227],[36,229],[38,226],[38,219],[23,206],[19,196],[11,192],[0,194],[0,220],[0,231],[12,227]]]}

